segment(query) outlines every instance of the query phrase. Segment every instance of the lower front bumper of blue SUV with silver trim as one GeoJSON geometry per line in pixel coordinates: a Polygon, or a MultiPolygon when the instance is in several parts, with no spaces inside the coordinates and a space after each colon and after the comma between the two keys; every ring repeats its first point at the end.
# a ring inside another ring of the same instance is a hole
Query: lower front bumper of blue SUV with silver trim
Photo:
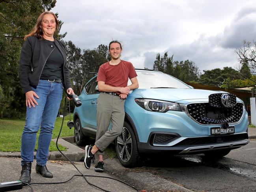
{"type": "Polygon", "coordinates": [[[199,154],[211,150],[236,149],[249,144],[248,133],[237,133],[220,136],[177,137],[165,144],[154,144],[152,139],[147,143],[138,142],[140,153],[199,154]]]}

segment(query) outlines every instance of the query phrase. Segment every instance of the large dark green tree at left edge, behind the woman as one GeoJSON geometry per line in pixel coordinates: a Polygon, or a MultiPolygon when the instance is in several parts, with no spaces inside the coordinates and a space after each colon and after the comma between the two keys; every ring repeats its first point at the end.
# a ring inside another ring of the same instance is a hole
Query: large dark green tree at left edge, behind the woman
{"type": "Polygon", "coordinates": [[[26,111],[18,75],[23,38],[32,30],[37,17],[55,3],[56,0],[0,0],[0,110],[5,112],[4,117],[21,117],[26,111]]]}

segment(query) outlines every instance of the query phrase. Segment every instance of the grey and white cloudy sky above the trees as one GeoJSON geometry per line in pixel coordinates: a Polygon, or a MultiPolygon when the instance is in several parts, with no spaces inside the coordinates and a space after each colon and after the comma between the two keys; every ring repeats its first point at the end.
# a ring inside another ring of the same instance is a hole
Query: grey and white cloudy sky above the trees
{"type": "Polygon", "coordinates": [[[61,33],[81,49],[112,40],[122,59],[152,69],[156,54],[174,54],[203,70],[237,69],[235,48],[256,39],[255,0],[57,0],[61,33]]]}

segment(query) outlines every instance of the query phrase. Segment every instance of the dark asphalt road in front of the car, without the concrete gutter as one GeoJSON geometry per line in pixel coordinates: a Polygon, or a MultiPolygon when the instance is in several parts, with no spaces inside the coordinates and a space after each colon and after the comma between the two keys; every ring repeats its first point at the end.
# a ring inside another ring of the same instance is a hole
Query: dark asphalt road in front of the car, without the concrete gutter
{"type": "Polygon", "coordinates": [[[198,192],[256,192],[256,141],[219,160],[204,155],[165,155],[137,169],[198,192]]]}

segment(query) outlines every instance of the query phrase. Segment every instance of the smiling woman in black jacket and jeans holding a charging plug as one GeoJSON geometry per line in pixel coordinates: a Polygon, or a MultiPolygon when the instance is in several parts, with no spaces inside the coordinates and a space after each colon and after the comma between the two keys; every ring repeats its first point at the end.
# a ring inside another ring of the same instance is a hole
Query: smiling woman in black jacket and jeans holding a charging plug
{"type": "Polygon", "coordinates": [[[74,94],[66,65],[65,46],[54,38],[58,20],[46,11],[38,17],[32,32],[25,36],[19,62],[19,77],[26,95],[26,123],[21,137],[20,181],[30,183],[36,133],[40,127],[36,153],[36,173],[51,178],[46,162],[52,130],[63,89],[74,94]]]}

